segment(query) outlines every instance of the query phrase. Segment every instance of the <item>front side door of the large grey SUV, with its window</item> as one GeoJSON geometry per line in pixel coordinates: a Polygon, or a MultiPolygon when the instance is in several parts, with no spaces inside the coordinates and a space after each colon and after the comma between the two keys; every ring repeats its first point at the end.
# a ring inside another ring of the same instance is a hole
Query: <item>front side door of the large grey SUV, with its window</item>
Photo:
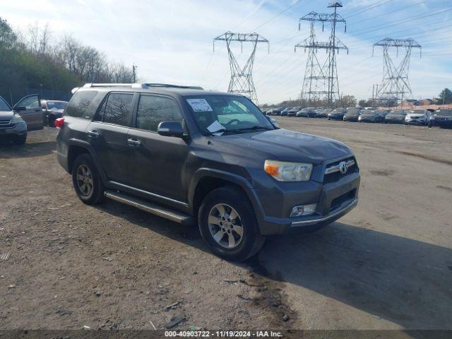
{"type": "Polygon", "coordinates": [[[133,120],[127,137],[131,186],[186,202],[186,141],[157,133],[162,121],[182,122],[179,105],[171,97],[141,94],[133,120]]]}

